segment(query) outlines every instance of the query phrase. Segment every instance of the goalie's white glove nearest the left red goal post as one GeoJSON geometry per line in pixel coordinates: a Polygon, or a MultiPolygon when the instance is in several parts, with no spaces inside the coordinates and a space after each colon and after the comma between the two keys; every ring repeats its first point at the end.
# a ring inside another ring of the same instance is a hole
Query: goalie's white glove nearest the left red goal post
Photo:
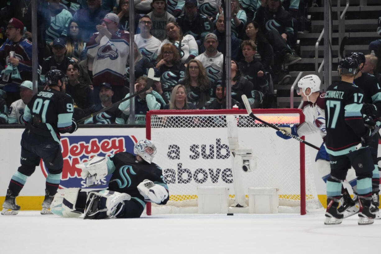
{"type": "Polygon", "coordinates": [[[139,183],[138,190],[145,201],[160,204],[168,198],[168,191],[161,185],[154,184],[150,180],[139,183]]]}

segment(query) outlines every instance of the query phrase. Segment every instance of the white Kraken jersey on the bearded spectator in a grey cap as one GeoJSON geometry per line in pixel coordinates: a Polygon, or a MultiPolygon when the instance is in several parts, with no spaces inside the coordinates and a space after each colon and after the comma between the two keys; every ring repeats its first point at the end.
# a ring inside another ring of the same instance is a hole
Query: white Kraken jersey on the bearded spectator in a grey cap
{"type": "Polygon", "coordinates": [[[217,54],[212,57],[204,52],[201,55],[196,56],[195,59],[199,60],[207,70],[211,84],[213,84],[216,79],[222,77],[224,56],[221,52],[217,52],[217,54]]]}

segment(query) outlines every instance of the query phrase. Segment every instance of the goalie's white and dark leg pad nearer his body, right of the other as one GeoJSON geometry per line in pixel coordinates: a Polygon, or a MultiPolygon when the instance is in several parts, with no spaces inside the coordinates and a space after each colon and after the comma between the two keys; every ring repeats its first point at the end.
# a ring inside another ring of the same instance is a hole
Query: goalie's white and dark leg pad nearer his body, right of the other
{"type": "Polygon", "coordinates": [[[86,210],[84,219],[105,219],[115,217],[121,209],[119,204],[124,205],[125,200],[130,200],[131,196],[117,191],[101,190],[91,191],[86,200],[86,210]]]}

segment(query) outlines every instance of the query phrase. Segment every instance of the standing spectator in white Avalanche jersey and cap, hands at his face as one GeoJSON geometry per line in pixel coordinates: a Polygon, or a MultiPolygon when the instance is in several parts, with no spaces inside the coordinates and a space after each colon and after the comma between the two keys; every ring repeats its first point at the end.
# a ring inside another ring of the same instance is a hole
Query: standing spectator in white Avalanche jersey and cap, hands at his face
{"type": "Polygon", "coordinates": [[[93,61],[94,102],[99,103],[99,88],[102,83],[111,84],[113,102],[123,99],[126,80],[126,63],[130,51],[127,31],[118,28],[119,18],[115,13],[107,14],[98,32],[86,44],[87,54],[93,61]]]}

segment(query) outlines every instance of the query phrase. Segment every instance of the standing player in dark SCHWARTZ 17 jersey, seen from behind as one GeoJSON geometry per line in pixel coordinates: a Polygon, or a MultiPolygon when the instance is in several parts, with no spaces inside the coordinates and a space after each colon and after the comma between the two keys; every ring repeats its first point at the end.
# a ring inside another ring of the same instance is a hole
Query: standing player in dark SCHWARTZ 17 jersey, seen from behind
{"type": "Polygon", "coordinates": [[[372,171],[374,169],[370,148],[370,125],[364,125],[360,112],[363,106],[364,92],[353,84],[359,71],[359,63],[347,57],[339,63],[338,72],[341,81],[330,85],[326,92],[325,119],[327,136],[325,146],[330,154],[331,175],[327,179],[327,211],[325,224],[339,224],[343,214],[338,212],[342,182],[347,170],[352,166],[357,175],[357,193],[359,195],[359,225],[371,224],[375,214],[370,211],[372,196],[372,171]],[[362,143],[358,149],[357,145],[362,143]],[[358,149],[358,150],[357,150],[358,149]]]}

